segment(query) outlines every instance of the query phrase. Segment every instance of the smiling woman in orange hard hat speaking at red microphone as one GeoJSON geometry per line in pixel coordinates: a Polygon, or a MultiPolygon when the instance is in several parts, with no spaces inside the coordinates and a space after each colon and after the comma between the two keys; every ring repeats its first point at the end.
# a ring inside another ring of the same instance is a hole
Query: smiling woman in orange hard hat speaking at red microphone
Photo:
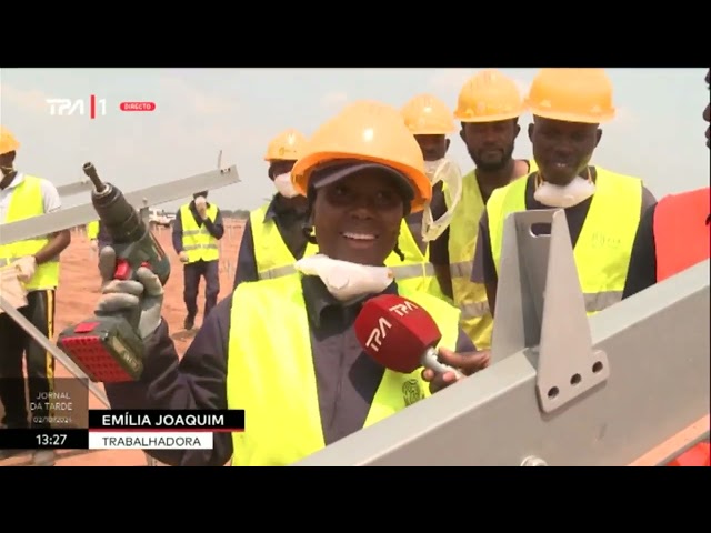
{"type": "MultiPolygon", "coordinates": [[[[402,219],[431,198],[422,152],[401,114],[378,102],[348,105],[310,139],[292,180],[308,199],[320,250],[302,261],[318,263],[319,273],[241,283],[182,360],[161,321],[162,288],[150,271],[139,270],[142,283],[112,282],[99,301],[98,313],[130,312],[126,292],[144,294],[139,328],[150,364],[138,382],[106,384],[113,409],[249,413],[247,432],[216,433],[211,450],[147,451],[161,462],[222,465],[232,456],[232,465],[291,464],[429,394],[419,371],[385,370],[363,353],[353,331],[363,301],[401,292],[383,265],[402,219]],[[343,269],[349,283],[322,281],[333,269],[343,269]]],[[[101,258],[107,279],[116,259],[110,251],[101,258]]],[[[472,352],[457,308],[423,292],[401,293],[439,325],[440,352],[472,352]]]]}

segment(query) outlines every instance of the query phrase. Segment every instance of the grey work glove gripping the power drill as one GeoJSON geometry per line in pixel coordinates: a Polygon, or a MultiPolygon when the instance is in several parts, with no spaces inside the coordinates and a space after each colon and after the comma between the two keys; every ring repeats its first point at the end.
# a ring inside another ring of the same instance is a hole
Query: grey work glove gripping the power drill
{"type": "Polygon", "coordinates": [[[114,280],[116,250],[104,247],[99,252],[101,272],[101,298],[96,306],[97,315],[131,313],[140,306],[138,333],[146,339],[153,333],[161,321],[163,285],[156,274],[141,266],[136,271],[138,281],[114,280]]]}

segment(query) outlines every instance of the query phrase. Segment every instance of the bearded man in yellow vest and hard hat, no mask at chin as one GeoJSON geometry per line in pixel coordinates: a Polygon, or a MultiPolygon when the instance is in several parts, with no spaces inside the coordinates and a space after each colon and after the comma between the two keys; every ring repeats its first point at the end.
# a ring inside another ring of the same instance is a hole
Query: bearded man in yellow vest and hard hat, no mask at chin
{"type": "MultiPolygon", "coordinates": [[[[513,159],[515,139],[524,111],[515,82],[497,70],[484,70],[462,87],[454,117],[461,121],[460,138],[474,163],[462,179],[459,203],[451,191],[447,207],[453,210],[449,228],[431,244],[431,261],[440,285],[462,312],[462,328],[481,349],[491,344],[492,316],[487,292],[471,280],[478,224],[491,193],[513,179],[533,172],[533,161],[513,159]]],[[[441,211],[437,215],[441,214],[441,211]]]]}

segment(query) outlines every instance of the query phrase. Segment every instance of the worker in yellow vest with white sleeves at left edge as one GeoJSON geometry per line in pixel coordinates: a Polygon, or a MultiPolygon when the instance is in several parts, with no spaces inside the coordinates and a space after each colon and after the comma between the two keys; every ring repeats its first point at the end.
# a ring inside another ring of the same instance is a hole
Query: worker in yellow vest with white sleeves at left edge
{"type": "MultiPolygon", "coordinates": [[[[61,209],[57,188],[48,180],[19,172],[14,158],[20,143],[0,127],[0,233],[2,224],[39,217],[61,209]]],[[[54,293],[59,285],[59,254],[71,242],[69,230],[26,241],[0,244],[0,266],[12,264],[27,290],[28,304],[19,311],[48,339],[54,336],[54,293]]],[[[51,428],[51,412],[42,405],[54,389],[54,359],[7,313],[0,314],[0,401],[7,428],[51,428]],[[30,403],[39,404],[30,413],[26,405],[22,355],[26,355],[30,403]]],[[[0,459],[12,455],[0,451],[0,459]]],[[[51,466],[51,450],[36,451],[33,464],[51,466]]]]}

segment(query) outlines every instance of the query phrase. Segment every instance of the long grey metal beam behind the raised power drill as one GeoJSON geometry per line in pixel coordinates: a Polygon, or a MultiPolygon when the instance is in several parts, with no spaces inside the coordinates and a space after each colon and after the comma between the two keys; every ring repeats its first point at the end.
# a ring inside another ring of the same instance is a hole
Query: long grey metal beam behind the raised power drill
{"type": "MultiPolygon", "coordinates": [[[[108,180],[110,182],[110,180],[108,180]]],[[[124,193],[126,199],[137,210],[160,203],[190,197],[197,190],[213,190],[231,185],[240,181],[237,167],[212,170],[202,174],[191,175],[169,183],[148,187],[138,191],[124,193]]],[[[118,187],[118,185],[117,185],[118,187]]],[[[76,208],[62,209],[54,213],[33,217],[31,219],[2,224],[0,227],[0,244],[23,241],[33,237],[46,235],[68,228],[83,225],[97,219],[91,203],[76,208]]]]}

